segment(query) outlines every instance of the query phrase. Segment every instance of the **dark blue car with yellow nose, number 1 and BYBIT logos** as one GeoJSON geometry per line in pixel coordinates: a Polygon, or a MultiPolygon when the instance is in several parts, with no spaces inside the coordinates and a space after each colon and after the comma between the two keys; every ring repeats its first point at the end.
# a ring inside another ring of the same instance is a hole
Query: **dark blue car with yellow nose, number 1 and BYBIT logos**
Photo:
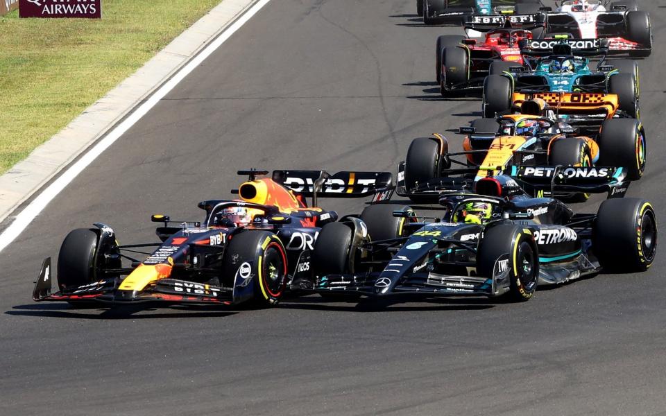
{"type": "MultiPolygon", "coordinates": [[[[337,218],[317,206],[317,195],[366,196],[392,185],[391,173],[321,171],[239,171],[239,200],[206,200],[202,222],[163,223],[161,242],[119,245],[114,230],[94,228],[67,234],[58,254],[58,291],[52,291],[51,259],[44,260],[33,300],[107,306],[161,304],[239,304],[278,302],[297,260],[312,248],[321,227],[337,218]],[[287,180],[288,178],[288,180],[287,180]],[[292,189],[299,189],[298,192],[292,189]],[[312,196],[308,207],[303,197],[312,196]],[[148,251],[145,251],[148,250],[148,251]],[[143,254],[143,258],[137,258],[143,254]]],[[[303,260],[300,268],[308,268],[303,260]]]]}

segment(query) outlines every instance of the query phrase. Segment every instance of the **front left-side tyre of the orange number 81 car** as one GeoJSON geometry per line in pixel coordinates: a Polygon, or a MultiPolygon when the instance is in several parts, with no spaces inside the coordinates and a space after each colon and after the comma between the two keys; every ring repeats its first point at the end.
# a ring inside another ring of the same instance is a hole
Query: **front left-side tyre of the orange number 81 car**
{"type": "Polygon", "coordinates": [[[438,176],[441,150],[434,139],[413,139],[404,160],[404,183],[407,191],[438,176]]]}

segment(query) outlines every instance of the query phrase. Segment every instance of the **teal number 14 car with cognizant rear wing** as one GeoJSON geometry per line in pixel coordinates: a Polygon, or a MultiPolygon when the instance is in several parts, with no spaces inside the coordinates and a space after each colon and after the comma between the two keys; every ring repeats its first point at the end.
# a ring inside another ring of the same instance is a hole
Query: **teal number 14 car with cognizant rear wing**
{"type": "MultiPolygon", "coordinates": [[[[602,59],[596,69],[590,69],[588,58],[581,56],[606,49],[603,43],[567,38],[521,42],[524,65],[494,62],[491,66],[491,74],[484,81],[484,116],[493,117],[509,110],[513,93],[550,92],[552,96],[589,99],[590,103],[616,101],[617,107],[609,112],[610,116],[620,110],[625,116],[638,118],[637,64],[631,60],[613,60],[606,64],[602,59]]],[[[515,99],[513,97],[513,101],[515,99]]]]}

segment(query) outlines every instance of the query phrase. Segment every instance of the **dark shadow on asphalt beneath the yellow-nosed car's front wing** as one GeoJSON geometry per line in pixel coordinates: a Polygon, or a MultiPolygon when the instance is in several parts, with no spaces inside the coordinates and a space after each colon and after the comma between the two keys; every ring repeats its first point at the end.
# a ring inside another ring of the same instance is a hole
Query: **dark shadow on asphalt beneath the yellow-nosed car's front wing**
{"type": "Polygon", "coordinates": [[[40,318],[68,319],[160,319],[160,318],[219,318],[235,315],[237,311],[221,310],[219,306],[172,306],[171,308],[150,308],[120,306],[113,309],[95,307],[78,308],[69,304],[27,304],[13,306],[6,315],[36,316],[40,318]],[[175,310],[175,311],[174,311],[175,310]],[[162,312],[164,311],[164,312],[162,312]],[[139,313],[142,312],[142,313],[139,313]]]}

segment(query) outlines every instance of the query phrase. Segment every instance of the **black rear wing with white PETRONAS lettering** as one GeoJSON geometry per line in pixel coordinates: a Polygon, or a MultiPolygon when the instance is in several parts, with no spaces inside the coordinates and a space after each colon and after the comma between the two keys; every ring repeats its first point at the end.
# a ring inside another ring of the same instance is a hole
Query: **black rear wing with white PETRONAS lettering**
{"type": "Polygon", "coordinates": [[[535,196],[556,193],[608,193],[622,198],[631,182],[624,168],[594,166],[508,166],[505,173],[535,196]]]}

